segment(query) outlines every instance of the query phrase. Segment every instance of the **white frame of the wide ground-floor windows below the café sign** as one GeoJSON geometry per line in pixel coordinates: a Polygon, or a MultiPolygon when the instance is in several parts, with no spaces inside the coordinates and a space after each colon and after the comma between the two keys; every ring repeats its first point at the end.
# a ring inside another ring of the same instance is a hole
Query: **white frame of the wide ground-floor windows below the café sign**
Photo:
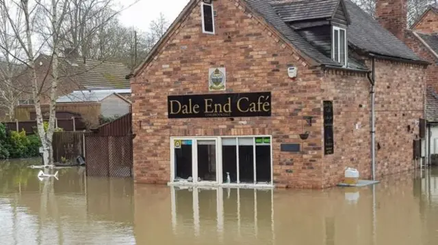
{"type": "Polygon", "coordinates": [[[272,160],[272,136],[271,135],[233,135],[233,136],[170,136],[170,182],[171,186],[227,186],[227,187],[246,187],[246,188],[273,188],[274,187],[274,167],[272,160]],[[261,183],[257,181],[257,167],[255,154],[255,138],[270,138],[270,164],[271,176],[270,183],[261,183]],[[222,139],[237,138],[236,141],[236,168],[237,168],[237,183],[224,183],[222,175],[222,139]],[[254,183],[240,183],[239,176],[239,139],[252,138],[253,139],[253,167],[254,167],[254,183]],[[192,178],[193,182],[175,182],[175,140],[191,140],[192,141],[192,178]],[[198,141],[216,140],[216,182],[201,181],[198,182],[198,141]]]}

